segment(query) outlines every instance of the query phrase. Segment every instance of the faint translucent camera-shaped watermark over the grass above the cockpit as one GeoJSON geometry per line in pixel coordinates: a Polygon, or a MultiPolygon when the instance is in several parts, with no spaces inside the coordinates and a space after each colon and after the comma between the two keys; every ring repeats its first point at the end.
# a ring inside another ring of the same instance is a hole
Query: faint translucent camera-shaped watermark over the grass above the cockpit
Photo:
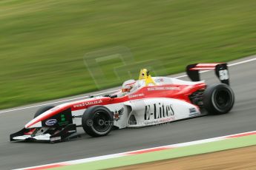
{"type": "Polygon", "coordinates": [[[154,75],[160,75],[160,69],[162,75],[166,73],[161,61],[147,58],[137,61],[127,47],[88,52],[84,56],[84,63],[98,89],[137,79],[142,68],[154,75]]]}

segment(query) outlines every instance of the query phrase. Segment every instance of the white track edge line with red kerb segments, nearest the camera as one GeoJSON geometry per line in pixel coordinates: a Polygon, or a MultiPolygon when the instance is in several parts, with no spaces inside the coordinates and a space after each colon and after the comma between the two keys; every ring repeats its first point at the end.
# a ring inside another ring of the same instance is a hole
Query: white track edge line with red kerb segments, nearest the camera
{"type": "MultiPolygon", "coordinates": [[[[171,144],[171,145],[166,145],[166,146],[158,146],[158,147],[153,147],[153,148],[148,148],[148,149],[135,150],[135,151],[131,151],[131,152],[107,154],[107,155],[103,155],[103,156],[99,156],[99,157],[89,157],[89,158],[84,158],[84,159],[79,159],[79,160],[69,160],[69,161],[59,162],[59,163],[50,163],[50,164],[45,164],[45,165],[41,165],[41,166],[31,166],[31,167],[15,169],[15,170],[37,169],[37,168],[44,168],[45,166],[54,166],[54,165],[70,166],[70,165],[76,165],[76,164],[80,164],[80,163],[89,163],[89,162],[98,161],[98,160],[107,160],[107,159],[112,159],[112,158],[117,158],[117,157],[125,157],[125,156],[134,155],[134,154],[132,154],[133,152],[141,152],[141,151],[147,151],[147,150],[151,150],[151,149],[160,149],[160,148],[175,149],[175,148],[180,148],[180,147],[184,147],[184,146],[194,146],[197,144],[211,143],[211,142],[215,142],[215,141],[226,140],[226,139],[229,139],[229,137],[232,137],[235,135],[246,135],[246,134],[255,133],[255,132],[256,131],[243,132],[243,133],[238,133],[238,134],[234,134],[234,135],[213,137],[213,138],[203,139],[203,140],[194,140],[194,141],[186,142],[186,143],[177,143],[177,144],[171,144]]],[[[252,134],[252,135],[255,135],[255,134],[252,134]]]]}

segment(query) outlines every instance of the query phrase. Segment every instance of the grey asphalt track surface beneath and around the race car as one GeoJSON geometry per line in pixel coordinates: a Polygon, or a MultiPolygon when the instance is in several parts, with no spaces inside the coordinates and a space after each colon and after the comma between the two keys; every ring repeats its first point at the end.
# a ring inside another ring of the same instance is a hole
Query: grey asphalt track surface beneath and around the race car
{"type": "MultiPolygon", "coordinates": [[[[255,57],[251,56],[239,61],[255,57]]],[[[234,62],[237,61],[230,62],[229,64],[234,62]]],[[[36,105],[45,103],[27,106],[27,109],[1,110],[0,169],[39,166],[47,163],[128,152],[137,149],[254,131],[256,129],[255,67],[256,61],[229,67],[231,86],[236,97],[234,108],[229,114],[217,116],[207,115],[200,118],[181,120],[158,126],[148,126],[140,129],[114,130],[106,137],[90,137],[82,129],[79,129],[82,137],[64,143],[10,143],[9,135],[22,129],[24,124],[33,118],[34,112],[40,107],[36,105]]],[[[171,77],[177,76],[172,75],[171,77]]],[[[218,82],[214,72],[204,72],[201,78],[205,79],[208,84],[218,82]]],[[[188,80],[186,77],[180,79],[188,80]]],[[[105,91],[109,90],[113,89],[105,91]]],[[[59,101],[63,101],[63,99],[59,101]]]]}

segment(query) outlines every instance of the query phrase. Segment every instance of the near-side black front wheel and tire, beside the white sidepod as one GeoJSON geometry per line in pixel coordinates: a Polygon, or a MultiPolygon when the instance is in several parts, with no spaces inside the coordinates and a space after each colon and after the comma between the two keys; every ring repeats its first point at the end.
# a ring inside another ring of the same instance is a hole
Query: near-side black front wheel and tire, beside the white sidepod
{"type": "Polygon", "coordinates": [[[105,106],[91,106],[82,115],[82,128],[92,137],[108,135],[113,123],[113,113],[105,106]]]}

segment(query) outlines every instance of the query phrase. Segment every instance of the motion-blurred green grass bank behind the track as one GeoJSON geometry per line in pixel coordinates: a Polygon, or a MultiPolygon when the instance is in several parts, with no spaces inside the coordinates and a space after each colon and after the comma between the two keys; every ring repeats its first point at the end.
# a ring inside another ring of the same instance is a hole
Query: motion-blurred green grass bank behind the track
{"type": "Polygon", "coordinates": [[[96,69],[96,86],[83,61],[88,52],[125,47],[134,58],[128,68],[157,64],[157,75],[255,54],[255,6],[255,0],[1,0],[0,109],[128,78],[114,75],[120,59],[102,61],[108,81],[96,69]]]}

